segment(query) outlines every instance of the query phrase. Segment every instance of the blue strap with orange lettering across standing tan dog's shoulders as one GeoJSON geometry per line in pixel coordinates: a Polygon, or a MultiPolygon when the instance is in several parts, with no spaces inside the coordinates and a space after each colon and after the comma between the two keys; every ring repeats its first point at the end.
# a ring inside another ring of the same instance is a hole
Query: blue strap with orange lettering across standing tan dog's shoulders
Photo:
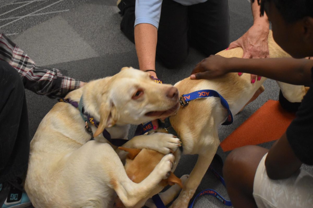
{"type": "Polygon", "coordinates": [[[198,90],[189,94],[183,94],[180,98],[180,103],[183,107],[186,107],[190,100],[194,100],[198,98],[207,98],[207,97],[220,98],[221,104],[223,105],[225,109],[227,109],[228,111],[227,120],[224,123],[222,123],[222,125],[229,125],[233,123],[233,115],[232,115],[232,112],[230,112],[227,101],[222,97],[222,95],[220,95],[217,91],[213,89],[203,89],[203,90],[198,90]]]}

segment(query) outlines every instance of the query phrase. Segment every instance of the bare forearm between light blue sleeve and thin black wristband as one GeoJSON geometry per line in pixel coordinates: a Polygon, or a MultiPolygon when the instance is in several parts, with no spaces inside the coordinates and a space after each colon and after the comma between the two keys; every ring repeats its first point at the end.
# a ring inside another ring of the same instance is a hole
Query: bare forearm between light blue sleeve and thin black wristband
{"type": "Polygon", "coordinates": [[[135,26],[135,44],[140,70],[155,70],[157,29],[151,24],[135,26]]]}

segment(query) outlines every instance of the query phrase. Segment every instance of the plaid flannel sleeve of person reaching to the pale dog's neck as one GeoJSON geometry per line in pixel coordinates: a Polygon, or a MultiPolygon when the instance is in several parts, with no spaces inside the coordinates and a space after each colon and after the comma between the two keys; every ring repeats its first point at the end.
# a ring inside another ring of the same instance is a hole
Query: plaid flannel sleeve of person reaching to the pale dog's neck
{"type": "Polygon", "coordinates": [[[15,43],[0,33],[0,60],[8,62],[21,75],[24,87],[50,98],[64,97],[79,88],[80,81],[64,76],[58,69],[37,67],[15,43]]]}

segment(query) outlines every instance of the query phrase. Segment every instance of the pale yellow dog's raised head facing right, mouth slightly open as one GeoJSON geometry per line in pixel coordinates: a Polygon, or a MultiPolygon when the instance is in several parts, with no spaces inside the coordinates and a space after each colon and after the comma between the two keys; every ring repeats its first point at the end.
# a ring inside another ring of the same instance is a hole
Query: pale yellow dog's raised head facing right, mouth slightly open
{"type": "Polygon", "coordinates": [[[114,124],[140,124],[170,116],[178,110],[178,100],[177,88],[157,84],[148,73],[131,67],[89,82],[83,92],[85,110],[100,121],[95,136],[114,124]]]}

